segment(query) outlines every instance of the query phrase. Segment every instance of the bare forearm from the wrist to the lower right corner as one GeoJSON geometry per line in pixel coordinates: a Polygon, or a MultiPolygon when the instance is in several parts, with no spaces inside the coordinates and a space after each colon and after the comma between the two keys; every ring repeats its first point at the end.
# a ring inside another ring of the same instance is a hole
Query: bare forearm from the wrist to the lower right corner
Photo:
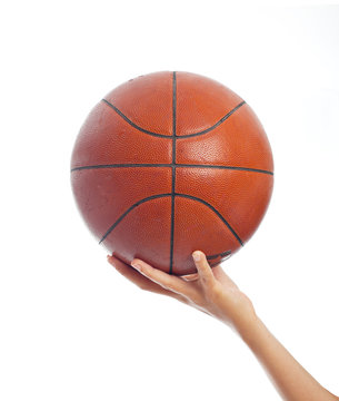
{"type": "Polygon", "coordinates": [[[262,364],[283,400],[339,400],[321,387],[255,316],[239,331],[242,340],[262,364]]]}

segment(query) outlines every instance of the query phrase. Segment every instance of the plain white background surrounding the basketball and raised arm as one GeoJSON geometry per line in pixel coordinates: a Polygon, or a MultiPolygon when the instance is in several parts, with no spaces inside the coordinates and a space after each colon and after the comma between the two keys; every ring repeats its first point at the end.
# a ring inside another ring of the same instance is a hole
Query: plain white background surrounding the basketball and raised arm
{"type": "Polygon", "coordinates": [[[229,327],[133,286],[77,211],[82,121],[109,90],[158,70],[219,80],[263,124],[271,204],[222,266],[339,394],[339,7],[8,1],[0,22],[0,398],[279,400],[229,327]]]}

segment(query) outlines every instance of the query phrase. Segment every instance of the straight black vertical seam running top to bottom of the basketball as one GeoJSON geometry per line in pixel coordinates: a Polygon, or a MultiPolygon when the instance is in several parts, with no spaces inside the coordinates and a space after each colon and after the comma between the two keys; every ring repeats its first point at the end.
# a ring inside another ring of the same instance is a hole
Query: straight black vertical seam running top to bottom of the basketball
{"type": "Polygon", "coordinates": [[[172,194],[171,194],[171,244],[169,274],[173,271],[173,245],[175,245],[175,193],[176,193],[176,136],[177,136],[177,74],[173,71],[172,79],[172,194]]]}

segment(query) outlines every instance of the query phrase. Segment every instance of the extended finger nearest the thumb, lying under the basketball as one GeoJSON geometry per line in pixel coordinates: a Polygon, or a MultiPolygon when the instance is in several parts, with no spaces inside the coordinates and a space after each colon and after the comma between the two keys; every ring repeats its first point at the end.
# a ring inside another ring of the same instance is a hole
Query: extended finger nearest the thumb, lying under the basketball
{"type": "Polygon", "coordinates": [[[177,276],[154,268],[148,263],[140,260],[133,260],[131,265],[141,274],[147,276],[149,280],[161,285],[163,288],[170,290],[177,294],[185,296],[189,295],[190,293],[190,287],[188,283],[177,276]]]}

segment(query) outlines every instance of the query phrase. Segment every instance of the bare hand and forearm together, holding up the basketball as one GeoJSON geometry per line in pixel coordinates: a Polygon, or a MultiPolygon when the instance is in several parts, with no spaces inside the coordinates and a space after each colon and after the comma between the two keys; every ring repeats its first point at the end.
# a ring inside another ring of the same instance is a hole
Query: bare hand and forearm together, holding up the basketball
{"type": "Polygon", "coordinates": [[[250,299],[220,264],[211,268],[201,251],[195,251],[192,257],[198,273],[181,277],[137,258],[132,261],[132,266],[110,255],[108,262],[141,290],[175,297],[230,326],[257,356],[283,400],[339,400],[321,387],[269,332],[250,299]]]}

